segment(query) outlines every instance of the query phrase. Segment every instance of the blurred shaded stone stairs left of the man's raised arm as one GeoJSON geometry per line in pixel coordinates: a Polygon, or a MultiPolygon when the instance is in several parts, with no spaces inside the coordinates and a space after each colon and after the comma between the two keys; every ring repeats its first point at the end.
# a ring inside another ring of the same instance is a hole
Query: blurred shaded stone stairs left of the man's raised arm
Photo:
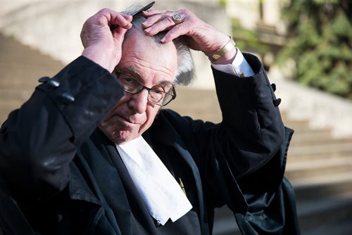
{"type": "Polygon", "coordinates": [[[0,34],[0,123],[30,97],[39,77],[61,68],[63,63],[0,34]]]}

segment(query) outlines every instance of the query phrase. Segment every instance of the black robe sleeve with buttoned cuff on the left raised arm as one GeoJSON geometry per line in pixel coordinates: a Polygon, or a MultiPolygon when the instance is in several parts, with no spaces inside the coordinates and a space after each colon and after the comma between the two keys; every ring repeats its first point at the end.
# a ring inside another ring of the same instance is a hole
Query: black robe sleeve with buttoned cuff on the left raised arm
{"type": "Polygon", "coordinates": [[[40,81],[0,130],[0,174],[16,200],[63,190],[77,148],[124,94],[108,70],[83,56],[40,81]]]}

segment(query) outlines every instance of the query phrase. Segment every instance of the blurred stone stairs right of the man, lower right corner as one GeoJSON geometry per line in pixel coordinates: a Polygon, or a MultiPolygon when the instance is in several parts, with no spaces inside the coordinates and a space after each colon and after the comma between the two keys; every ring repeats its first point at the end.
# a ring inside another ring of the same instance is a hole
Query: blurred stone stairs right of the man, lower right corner
{"type": "Polygon", "coordinates": [[[352,139],[332,139],[329,129],[296,129],[286,174],[294,185],[303,234],[351,234],[352,139]]]}

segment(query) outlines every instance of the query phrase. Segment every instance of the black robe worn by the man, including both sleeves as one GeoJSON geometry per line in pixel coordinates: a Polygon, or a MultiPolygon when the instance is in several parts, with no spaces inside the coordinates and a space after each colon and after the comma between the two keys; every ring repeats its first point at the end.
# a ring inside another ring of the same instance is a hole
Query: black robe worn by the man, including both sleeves
{"type": "MultiPolygon", "coordinates": [[[[282,124],[263,66],[245,56],[253,77],[213,70],[220,124],[161,110],[145,133],[194,207],[180,226],[168,222],[170,231],[191,223],[211,234],[213,208],[227,205],[243,234],[299,234],[284,178],[292,131],[282,124]]],[[[9,115],[0,132],[0,196],[19,207],[1,210],[2,230],[18,229],[6,213],[23,212],[29,231],[41,234],[170,233],[153,223],[115,146],[96,129],[122,95],[108,71],[81,56],[9,115]]],[[[26,224],[22,219],[16,221],[26,224]]]]}

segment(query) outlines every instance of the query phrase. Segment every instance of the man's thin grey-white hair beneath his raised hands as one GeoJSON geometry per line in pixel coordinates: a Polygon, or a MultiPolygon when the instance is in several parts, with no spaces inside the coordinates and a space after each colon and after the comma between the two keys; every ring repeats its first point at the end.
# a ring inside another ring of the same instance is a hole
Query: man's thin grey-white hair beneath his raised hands
{"type": "MultiPolygon", "coordinates": [[[[141,8],[140,5],[130,6],[124,13],[126,13],[127,15],[131,15],[139,8],[141,8]]],[[[147,36],[146,34],[144,34],[144,31],[142,29],[142,23],[144,23],[145,20],[146,18],[144,18],[142,14],[134,15],[132,20],[132,29],[126,32],[125,39],[130,37],[130,34],[132,34],[133,30],[137,30],[142,34],[142,37],[146,40],[146,42],[158,44],[158,46],[160,46],[161,48],[166,47],[165,44],[160,43],[160,40],[165,36],[166,32],[159,32],[154,36],[147,36]]],[[[188,85],[194,79],[194,64],[193,59],[191,57],[191,52],[189,51],[189,47],[184,42],[183,37],[178,37],[172,42],[175,44],[177,50],[177,69],[175,74],[175,84],[188,85]]]]}

